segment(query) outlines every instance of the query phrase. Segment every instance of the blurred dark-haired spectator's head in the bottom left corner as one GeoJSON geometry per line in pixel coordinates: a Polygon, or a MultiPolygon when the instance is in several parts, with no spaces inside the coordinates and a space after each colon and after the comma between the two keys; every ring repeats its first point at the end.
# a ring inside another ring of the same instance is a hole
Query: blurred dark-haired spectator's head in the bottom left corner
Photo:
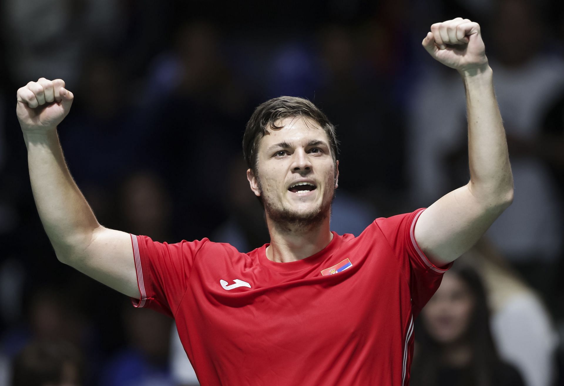
{"type": "Polygon", "coordinates": [[[81,386],[81,354],[65,341],[34,341],[14,359],[11,379],[11,386],[81,386]]]}

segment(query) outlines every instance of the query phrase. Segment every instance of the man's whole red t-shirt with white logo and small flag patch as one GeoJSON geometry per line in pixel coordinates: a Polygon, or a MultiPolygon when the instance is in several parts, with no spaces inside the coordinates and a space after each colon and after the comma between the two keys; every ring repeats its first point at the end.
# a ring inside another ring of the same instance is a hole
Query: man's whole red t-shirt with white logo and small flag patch
{"type": "Polygon", "coordinates": [[[268,260],[268,244],[241,253],[131,235],[133,304],[175,318],[202,386],[407,385],[413,318],[450,267],[415,242],[422,210],[378,218],[356,238],[333,233],[285,263],[268,260]]]}

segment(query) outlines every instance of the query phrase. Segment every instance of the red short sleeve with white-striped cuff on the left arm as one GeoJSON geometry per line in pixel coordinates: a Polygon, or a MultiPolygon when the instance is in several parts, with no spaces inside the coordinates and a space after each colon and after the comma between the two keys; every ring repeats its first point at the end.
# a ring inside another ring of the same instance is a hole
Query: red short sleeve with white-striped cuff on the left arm
{"type": "Polygon", "coordinates": [[[139,299],[135,307],[150,308],[174,318],[188,288],[196,255],[208,239],[169,244],[130,234],[139,299]]]}

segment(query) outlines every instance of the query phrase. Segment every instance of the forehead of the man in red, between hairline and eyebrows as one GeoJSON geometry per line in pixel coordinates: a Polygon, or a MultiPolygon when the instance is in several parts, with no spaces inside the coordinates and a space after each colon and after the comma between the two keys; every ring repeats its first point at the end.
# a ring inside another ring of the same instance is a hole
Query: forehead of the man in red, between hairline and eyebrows
{"type": "Polygon", "coordinates": [[[283,126],[281,129],[269,129],[268,135],[259,139],[259,150],[266,149],[275,143],[287,142],[292,146],[299,146],[312,139],[329,143],[327,133],[318,122],[309,117],[286,117],[274,122],[276,126],[283,126]]]}

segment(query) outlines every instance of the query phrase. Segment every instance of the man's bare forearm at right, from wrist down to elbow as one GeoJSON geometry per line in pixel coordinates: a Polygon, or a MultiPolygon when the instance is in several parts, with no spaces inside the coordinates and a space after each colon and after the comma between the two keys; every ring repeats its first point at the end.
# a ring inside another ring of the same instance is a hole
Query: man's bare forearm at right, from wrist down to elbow
{"type": "Polygon", "coordinates": [[[513,176],[492,70],[462,72],[468,114],[469,189],[481,202],[510,203],[513,176]]]}

